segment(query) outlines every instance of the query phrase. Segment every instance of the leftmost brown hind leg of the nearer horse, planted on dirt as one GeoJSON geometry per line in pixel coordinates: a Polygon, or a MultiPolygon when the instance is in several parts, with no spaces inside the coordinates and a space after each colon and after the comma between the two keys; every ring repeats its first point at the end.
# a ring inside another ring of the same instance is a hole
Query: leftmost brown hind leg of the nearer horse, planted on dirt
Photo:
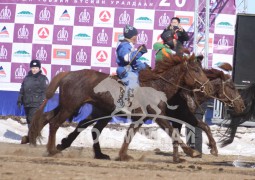
{"type": "Polygon", "coordinates": [[[49,138],[48,138],[48,144],[47,144],[47,151],[49,155],[54,155],[58,153],[59,151],[56,149],[56,132],[61,124],[65,122],[66,119],[71,117],[72,113],[60,110],[59,113],[50,121],[50,127],[49,127],[49,138]]]}

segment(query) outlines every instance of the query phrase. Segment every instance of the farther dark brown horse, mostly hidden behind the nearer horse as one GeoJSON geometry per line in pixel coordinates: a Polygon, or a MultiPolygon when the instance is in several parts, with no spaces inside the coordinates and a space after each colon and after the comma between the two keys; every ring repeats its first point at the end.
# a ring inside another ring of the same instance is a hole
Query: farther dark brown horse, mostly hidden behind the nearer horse
{"type": "MultiPolygon", "coordinates": [[[[229,106],[233,106],[236,112],[241,112],[244,109],[243,101],[239,96],[238,91],[235,89],[235,86],[232,82],[231,79],[229,79],[228,75],[225,75],[222,71],[216,70],[216,69],[211,69],[211,70],[204,70],[206,73],[207,77],[210,79],[211,84],[214,87],[214,91],[210,97],[220,99],[222,102],[228,104],[229,106]]],[[[146,72],[144,72],[146,73],[146,72]]],[[[143,72],[142,72],[143,76],[143,72]]],[[[146,76],[145,76],[146,77],[146,76]]],[[[205,96],[203,93],[195,92],[195,96],[197,97],[197,103],[194,102],[194,97],[193,94],[190,92],[187,92],[185,90],[182,90],[178,94],[176,94],[173,98],[168,100],[169,104],[176,105],[178,104],[179,107],[177,110],[167,110],[166,113],[168,116],[171,116],[173,118],[177,118],[182,120],[183,122],[186,122],[190,125],[200,127],[203,129],[206,134],[208,135],[209,139],[209,146],[211,147],[211,153],[213,155],[217,155],[217,147],[215,140],[212,137],[210,128],[207,124],[205,124],[203,121],[198,121],[195,116],[194,116],[194,110],[197,108],[197,105],[202,103],[203,101],[206,101],[209,97],[205,96]],[[187,106],[186,100],[182,98],[181,96],[184,96],[189,104],[189,107],[187,106]]],[[[97,112],[97,109],[94,109],[90,118],[96,119],[102,116],[102,113],[97,112]]],[[[97,129],[99,132],[102,131],[102,129],[106,126],[106,124],[111,120],[111,118],[104,119],[103,121],[97,123],[93,129],[97,129]]],[[[169,129],[169,123],[164,122],[165,120],[158,120],[157,123],[161,124],[161,128],[163,129],[169,129]]],[[[63,150],[71,145],[71,143],[74,141],[74,139],[79,135],[78,129],[85,129],[88,125],[92,124],[88,122],[88,119],[81,121],[77,128],[68,135],[68,137],[62,139],[62,143],[59,144],[57,147],[59,150],[63,150]],[[84,123],[86,122],[86,123],[84,123]]],[[[174,123],[173,126],[175,128],[178,128],[178,126],[181,125],[179,123],[174,123]]],[[[180,126],[179,126],[180,127],[180,126]]],[[[171,135],[171,133],[169,133],[171,135]]],[[[93,139],[96,139],[95,133],[92,132],[93,139]]],[[[130,140],[130,139],[129,139],[130,140]]],[[[104,155],[101,152],[99,142],[94,143],[93,145],[94,151],[95,151],[95,158],[109,158],[109,156],[104,155]]],[[[194,153],[192,151],[189,151],[187,146],[182,143],[181,147],[183,148],[184,152],[187,153],[188,155],[194,157],[196,155],[200,155],[197,153],[194,153]]],[[[178,152],[178,151],[175,151],[178,152]]],[[[175,155],[178,157],[177,155],[175,155]]]]}

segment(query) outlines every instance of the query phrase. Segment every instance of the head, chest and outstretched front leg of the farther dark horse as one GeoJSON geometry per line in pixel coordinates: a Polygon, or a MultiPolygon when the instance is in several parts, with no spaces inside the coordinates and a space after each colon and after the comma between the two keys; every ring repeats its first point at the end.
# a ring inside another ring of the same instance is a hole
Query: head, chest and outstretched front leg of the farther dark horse
{"type": "MultiPolygon", "coordinates": [[[[204,70],[204,72],[214,87],[213,93],[210,96],[206,96],[200,92],[191,94],[190,92],[182,90],[179,95],[177,94],[174,98],[168,101],[169,104],[178,103],[180,108],[175,111],[167,110],[167,114],[174,118],[181,119],[192,126],[201,128],[209,139],[208,145],[211,148],[211,154],[217,155],[218,150],[210,127],[202,120],[196,119],[194,116],[195,110],[199,108],[200,104],[209,100],[209,98],[219,99],[221,102],[232,107],[236,113],[243,112],[245,106],[229,75],[226,75],[217,69],[204,70]]],[[[182,124],[176,122],[173,122],[172,125],[174,128],[178,128],[179,131],[182,127],[182,124]]]]}

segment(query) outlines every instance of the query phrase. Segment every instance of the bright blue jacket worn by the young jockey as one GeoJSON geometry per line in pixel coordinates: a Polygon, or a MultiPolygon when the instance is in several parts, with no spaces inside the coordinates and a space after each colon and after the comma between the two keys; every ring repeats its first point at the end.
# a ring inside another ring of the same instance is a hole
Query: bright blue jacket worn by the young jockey
{"type": "Polygon", "coordinates": [[[122,42],[119,44],[117,50],[117,64],[119,66],[126,66],[132,61],[132,64],[136,63],[136,60],[142,56],[141,52],[137,53],[134,47],[129,42],[122,42]],[[137,54],[136,54],[137,53],[137,54]]]}

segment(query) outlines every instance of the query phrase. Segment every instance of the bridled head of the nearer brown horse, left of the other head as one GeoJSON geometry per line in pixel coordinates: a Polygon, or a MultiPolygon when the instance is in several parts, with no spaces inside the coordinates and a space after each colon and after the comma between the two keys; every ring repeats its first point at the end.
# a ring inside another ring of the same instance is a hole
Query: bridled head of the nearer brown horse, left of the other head
{"type": "Polygon", "coordinates": [[[195,59],[194,54],[184,62],[184,83],[192,89],[198,88],[201,92],[210,95],[213,86],[202,70],[200,61],[195,59]]]}

